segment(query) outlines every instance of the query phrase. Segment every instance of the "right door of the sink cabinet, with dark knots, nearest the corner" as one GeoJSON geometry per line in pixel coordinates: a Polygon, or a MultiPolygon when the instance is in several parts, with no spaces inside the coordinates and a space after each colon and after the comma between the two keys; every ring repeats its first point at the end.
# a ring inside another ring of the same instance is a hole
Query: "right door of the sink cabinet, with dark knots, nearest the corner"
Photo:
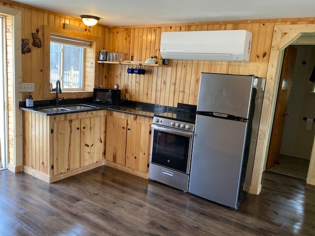
{"type": "Polygon", "coordinates": [[[81,166],[88,166],[104,159],[105,117],[81,119],[81,166]]]}

